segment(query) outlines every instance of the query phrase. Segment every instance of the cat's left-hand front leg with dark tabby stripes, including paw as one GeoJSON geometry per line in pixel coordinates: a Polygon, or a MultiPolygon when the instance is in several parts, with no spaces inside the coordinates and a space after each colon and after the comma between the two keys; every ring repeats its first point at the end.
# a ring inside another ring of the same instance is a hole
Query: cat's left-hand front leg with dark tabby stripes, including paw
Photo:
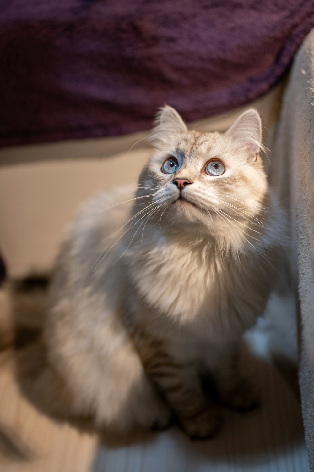
{"type": "Polygon", "coordinates": [[[183,430],[192,438],[214,436],[222,418],[203,392],[196,364],[178,362],[158,349],[158,343],[144,347],[145,341],[141,339],[139,348],[145,370],[164,394],[183,430]]]}

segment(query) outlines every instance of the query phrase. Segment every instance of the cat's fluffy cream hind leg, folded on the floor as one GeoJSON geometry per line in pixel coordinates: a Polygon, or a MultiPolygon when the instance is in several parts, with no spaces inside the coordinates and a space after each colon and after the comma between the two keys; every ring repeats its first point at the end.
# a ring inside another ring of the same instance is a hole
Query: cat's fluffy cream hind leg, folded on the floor
{"type": "Polygon", "coordinates": [[[123,434],[167,427],[173,413],[119,319],[107,312],[97,329],[90,322],[89,330],[75,332],[77,325],[58,322],[47,333],[50,364],[72,399],[67,413],[92,417],[97,428],[123,434]]]}

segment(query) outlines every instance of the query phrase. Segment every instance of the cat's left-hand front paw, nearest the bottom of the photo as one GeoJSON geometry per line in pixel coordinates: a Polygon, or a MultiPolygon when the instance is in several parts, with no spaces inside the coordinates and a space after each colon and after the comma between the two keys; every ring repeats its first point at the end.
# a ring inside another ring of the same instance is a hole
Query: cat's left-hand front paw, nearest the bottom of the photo
{"type": "Polygon", "coordinates": [[[190,438],[213,438],[221,428],[222,417],[212,408],[208,408],[193,418],[181,420],[181,424],[190,438]]]}

